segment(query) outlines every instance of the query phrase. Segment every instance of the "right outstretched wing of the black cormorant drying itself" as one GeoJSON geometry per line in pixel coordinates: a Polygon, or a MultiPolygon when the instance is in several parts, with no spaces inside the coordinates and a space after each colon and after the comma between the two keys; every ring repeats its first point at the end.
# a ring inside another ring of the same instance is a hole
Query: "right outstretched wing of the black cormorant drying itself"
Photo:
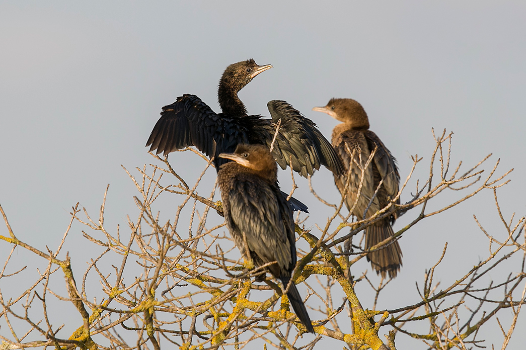
{"type": "MultiPolygon", "coordinates": [[[[341,159],[312,120],[302,116],[286,101],[272,100],[267,107],[274,125],[281,119],[272,154],[282,169],[286,168],[292,158],[292,169],[304,177],[312,175],[320,164],[337,176],[345,173],[341,159]]],[[[272,137],[274,132],[271,132],[271,138],[267,140],[269,147],[272,137]]]]}

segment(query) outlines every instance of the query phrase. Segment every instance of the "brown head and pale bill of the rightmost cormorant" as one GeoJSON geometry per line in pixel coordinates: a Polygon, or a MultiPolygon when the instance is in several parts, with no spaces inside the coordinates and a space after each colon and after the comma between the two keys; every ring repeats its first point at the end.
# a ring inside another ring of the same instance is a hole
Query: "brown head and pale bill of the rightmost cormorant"
{"type": "Polygon", "coordinates": [[[365,109],[352,98],[331,98],[325,107],[312,110],[327,113],[332,118],[351,124],[353,128],[369,129],[369,118],[365,109]]]}

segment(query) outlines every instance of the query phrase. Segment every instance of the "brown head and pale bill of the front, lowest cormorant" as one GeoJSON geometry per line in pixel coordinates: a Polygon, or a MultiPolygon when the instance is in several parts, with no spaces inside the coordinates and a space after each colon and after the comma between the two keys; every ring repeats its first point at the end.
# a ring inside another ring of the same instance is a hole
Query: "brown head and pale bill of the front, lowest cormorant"
{"type": "Polygon", "coordinates": [[[247,172],[272,182],[277,181],[278,167],[267,146],[241,144],[234,153],[221,153],[219,157],[235,161],[246,168],[247,172]]]}

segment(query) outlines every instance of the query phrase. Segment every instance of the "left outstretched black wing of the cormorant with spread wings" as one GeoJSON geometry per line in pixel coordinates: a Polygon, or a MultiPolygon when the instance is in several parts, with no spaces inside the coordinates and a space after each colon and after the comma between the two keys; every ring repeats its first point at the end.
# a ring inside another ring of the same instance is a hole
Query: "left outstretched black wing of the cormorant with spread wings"
{"type": "Polygon", "coordinates": [[[221,118],[195,95],[185,94],[163,107],[161,117],[151,130],[146,147],[156,154],[195,146],[214,157],[216,140],[223,134],[221,118]]]}

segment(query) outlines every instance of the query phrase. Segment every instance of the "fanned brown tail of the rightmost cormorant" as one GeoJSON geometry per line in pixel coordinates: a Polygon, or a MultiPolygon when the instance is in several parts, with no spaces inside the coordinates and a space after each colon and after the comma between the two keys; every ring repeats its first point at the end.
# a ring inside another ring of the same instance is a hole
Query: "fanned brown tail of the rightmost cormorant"
{"type": "MultiPolygon", "coordinates": [[[[389,222],[380,221],[375,225],[369,226],[365,233],[365,249],[369,249],[386,240],[390,236],[395,234],[389,222]]],[[[387,273],[389,277],[395,278],[400,266],[402,266],[402,251],[398,242],[390,243],[388,246],[381,248],[367,254],[367,261],[371,262],[372,267],[376,270],[377,274],[381,274],[383,278],[386,278],[387,273]]]]}

